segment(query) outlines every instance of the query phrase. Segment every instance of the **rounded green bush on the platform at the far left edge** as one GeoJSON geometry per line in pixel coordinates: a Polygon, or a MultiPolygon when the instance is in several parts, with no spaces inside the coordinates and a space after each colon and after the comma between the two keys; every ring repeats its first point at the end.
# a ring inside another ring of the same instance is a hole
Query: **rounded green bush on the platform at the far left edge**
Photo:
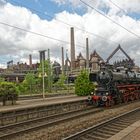
{"type": "Polygon", "coordinates": [[[18,98],[18,90],[14,83],[0,82],[0,97],[5,105],[5,101],[14,101],[18,98]]]}

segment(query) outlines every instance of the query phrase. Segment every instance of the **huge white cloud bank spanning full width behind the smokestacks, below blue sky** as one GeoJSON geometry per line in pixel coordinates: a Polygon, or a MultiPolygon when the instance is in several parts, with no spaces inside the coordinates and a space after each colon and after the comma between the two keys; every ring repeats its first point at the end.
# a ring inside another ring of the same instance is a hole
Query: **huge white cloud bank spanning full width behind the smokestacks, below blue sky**
{"type": "MultiPolygon", "coordinates": [[[[98,3],[96,4],[98,5],[98,3]]],[[[117,14],[112,14],[110,16],[119,24],[122,24],[126,28],[140,35],[140,30],[138,30],[140,28],[139,20],[135,20],[127,15],[119,16],[117,14]]],[[[111,41],[105,41],[95,35],[91,35],[75,28],[75,43],[78,44],[75,49],[76,55],[82,52],[85,56],[85,38],[88,36],[90,53],[96,49],[101,57],[106,59],[120,43],[128,55],[130,55],[132,59],[135,59],[136,64],[140,65],[139,38],[128,33],[94,11],[88,11],[83,16],[63,11],[56,14],[51,21],[47,21],[40,19],[39,16],[23,7],[13,6],[9,3],[0,7],[0,22],[5,22],[32,32],[69,42],[70,26],[58,22],[56,19],[63,20],[64,22],[75,25],[89,32],[99,34],[100,36],[103,36],[105,40],[113,40],[114,42],[117,42],[113,43],[111,41]]],[[[70,51],[70,44],[52,40],[47,37],[37,36],[1,24],[0,46],[1,61],[14,59],[15,62],[26,61],[27,63],[29,54],[32,54],[34,59],[33,62],[39,62],[39,50],[47,50],[49,48],[51,60],[56,59],[59,62],[61,62],[61,47],[64,47],[65,55],[66,49],[70,51]],[[7,54],[9,55],[7,56],[7,54]]]]}

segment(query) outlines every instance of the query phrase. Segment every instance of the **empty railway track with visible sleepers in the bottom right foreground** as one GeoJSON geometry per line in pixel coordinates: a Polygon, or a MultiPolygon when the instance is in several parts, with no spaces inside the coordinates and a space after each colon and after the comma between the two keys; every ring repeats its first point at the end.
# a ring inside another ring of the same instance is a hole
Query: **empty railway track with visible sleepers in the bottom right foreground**
{"type": "Polygon", "coordinates": [[[140,108],[124,113],[63,140],[106,140],[140,119],[140,108]]]}

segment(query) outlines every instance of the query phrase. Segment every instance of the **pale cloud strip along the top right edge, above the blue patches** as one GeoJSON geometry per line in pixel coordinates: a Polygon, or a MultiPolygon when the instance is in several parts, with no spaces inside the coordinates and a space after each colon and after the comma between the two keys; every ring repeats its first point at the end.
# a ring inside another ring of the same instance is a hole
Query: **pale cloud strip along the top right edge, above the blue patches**
{"type": "MultiPolygon", "coordinates": [[[[59,5],[72,4],[75,7],[84,6],[88,10],[91,11],[91,9],[88,8],[86,5],[84,5],[80,0],[52,0],[52,1],[56,2],[59,5]]],[[[104,0],[82,0],[82,1],[100,10],[105,10],[107,8],[108,9],[107,12],[110,12],[111,14],[116,14],[118,12],[121,12],[121,9],[123,9],[127,13],[140,12],[140,0],[133,0],[133,1],[132,0],[105,0],[105,1],[104,0]]]]}

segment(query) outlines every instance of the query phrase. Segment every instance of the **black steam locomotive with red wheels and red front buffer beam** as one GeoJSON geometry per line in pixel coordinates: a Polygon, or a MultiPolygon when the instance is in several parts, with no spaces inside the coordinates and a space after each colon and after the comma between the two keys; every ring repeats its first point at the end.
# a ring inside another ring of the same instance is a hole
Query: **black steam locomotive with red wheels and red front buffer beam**
{"type": "Polygon", "coordinates": [[[140,99],[140,73],[131,69],[109,69],[102,67],[89,74],[95,90],[88,97],[88,103],[96,106],[114,104],[140,99]]]}

